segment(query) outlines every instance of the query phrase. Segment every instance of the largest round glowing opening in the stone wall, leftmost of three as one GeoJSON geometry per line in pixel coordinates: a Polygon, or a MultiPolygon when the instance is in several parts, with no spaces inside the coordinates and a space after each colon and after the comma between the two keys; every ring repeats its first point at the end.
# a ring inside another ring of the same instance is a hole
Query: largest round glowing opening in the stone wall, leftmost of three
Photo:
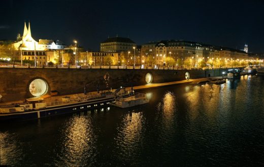
{"type": "Polygon", "coordinates": [[[48,92],[48,84],[43,79],[35,79],[29,85],[29,92],[35,97],[45,95],[48,92]]]}

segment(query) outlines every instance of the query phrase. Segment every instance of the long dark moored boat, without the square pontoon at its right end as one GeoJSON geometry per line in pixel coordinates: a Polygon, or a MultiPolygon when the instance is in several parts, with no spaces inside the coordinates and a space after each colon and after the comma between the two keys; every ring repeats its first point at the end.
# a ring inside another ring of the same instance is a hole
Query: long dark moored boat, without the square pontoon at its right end
{"type": "Polygon", "coordinates": [[[67,114],[95,108],[109,107],[115,99],[114,93],[92,96],[62,97],[46,102],[42,98],[26,99],[23,103],[0,106],[0,121],[27,120],[67,114]]]}

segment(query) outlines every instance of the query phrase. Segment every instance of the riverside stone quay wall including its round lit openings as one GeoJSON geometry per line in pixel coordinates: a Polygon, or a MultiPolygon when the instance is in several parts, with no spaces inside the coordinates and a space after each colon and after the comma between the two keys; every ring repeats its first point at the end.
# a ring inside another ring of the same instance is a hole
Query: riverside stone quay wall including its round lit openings
{"type": "MultiPolygon", "coordinates": [[[[90,91],[105,91],[227,74],[235,68],[185,69],[178,67],[90,66],[89,68],[45,67],[0,68],[2,102],[44,95],[68,95],[90,91]],[[106,86],[106,75],[108,84],[106,86]]],[[[239,67],[236,67],[239,69],[239,67]]]]}

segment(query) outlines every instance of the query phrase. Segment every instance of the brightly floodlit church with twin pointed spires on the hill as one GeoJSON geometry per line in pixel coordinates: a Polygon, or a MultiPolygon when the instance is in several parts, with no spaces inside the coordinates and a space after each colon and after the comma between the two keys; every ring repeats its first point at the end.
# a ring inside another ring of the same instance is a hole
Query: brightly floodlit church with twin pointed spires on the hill
{"type": "Polygon", "coordinates": [[[25,23],[23,36],[12,45],[16,50],[22,51],[63,50],[66,47],[60,40],[39,39],[39,41],[36,41],[31,36],[30,23],[28,23],[28,28],[25,23]]]}

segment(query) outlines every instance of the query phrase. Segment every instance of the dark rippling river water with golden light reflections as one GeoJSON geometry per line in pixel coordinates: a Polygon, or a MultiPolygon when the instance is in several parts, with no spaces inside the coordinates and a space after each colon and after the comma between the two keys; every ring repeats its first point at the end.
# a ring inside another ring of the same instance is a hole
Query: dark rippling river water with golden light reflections
{"type": "Polygon", "coordinates": [[[264,165],[264,79],[144,90],[149,104],[1,124],[1,164],[264,165]]]}

